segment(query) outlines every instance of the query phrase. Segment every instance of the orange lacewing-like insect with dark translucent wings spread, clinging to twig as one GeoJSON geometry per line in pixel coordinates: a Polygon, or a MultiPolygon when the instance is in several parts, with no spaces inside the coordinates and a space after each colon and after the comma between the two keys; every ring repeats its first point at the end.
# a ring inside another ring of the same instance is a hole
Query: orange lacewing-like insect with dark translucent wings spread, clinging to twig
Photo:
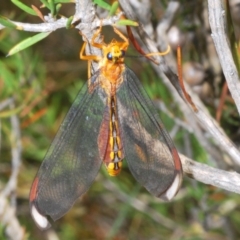
{"type": "Polygon", "coordinates": [[[172,199],[180,188],[182,166],[174,144],[137,76],[124,64],[128,39],[91,45],[103,57],[80,58],[99,63],[76,97],[58,130],[30,192],[31,215],[41,229],[50,227],[91,186],[102,163],[111,176],[125,159],[134,178],[151,194],[172,199]],[[158,143],[161,143],[161,148],[158,143]]]}

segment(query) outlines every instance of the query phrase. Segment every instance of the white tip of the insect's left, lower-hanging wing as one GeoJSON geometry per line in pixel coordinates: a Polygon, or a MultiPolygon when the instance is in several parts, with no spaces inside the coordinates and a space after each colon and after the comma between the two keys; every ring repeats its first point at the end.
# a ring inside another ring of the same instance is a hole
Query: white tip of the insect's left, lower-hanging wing
{"type": "Polygon", "coordinates": [[[35,201],[30,202],[30,212],[34,222],[41,230],[46,230],[51,227],[47,217],[38,211],[35,201]]]}

